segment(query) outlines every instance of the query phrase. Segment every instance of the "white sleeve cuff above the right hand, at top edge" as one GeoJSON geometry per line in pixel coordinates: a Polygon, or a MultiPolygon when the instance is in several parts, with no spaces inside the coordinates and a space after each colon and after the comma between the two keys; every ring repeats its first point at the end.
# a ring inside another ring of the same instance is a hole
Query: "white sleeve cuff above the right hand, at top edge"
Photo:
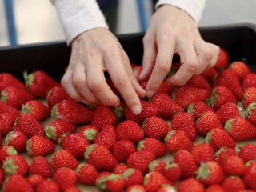
{"type": "Polygon", "coordinates": [[[159,0],[156,4],[162,6],[163,4],[170,4],[172,6],[177,6],[178,8],[185,10],[186,13],[190,14],[196,22],[199,21],[202,15],[202,10],[205,7],[206,0],[159,0]]]}

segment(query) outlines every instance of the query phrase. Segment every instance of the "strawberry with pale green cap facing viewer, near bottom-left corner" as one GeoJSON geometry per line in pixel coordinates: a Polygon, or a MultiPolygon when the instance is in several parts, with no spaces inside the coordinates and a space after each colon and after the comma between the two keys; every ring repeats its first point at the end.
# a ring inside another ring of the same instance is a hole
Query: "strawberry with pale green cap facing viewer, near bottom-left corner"
{"type": "Polygon", "coordinates": [[[6,174],[20,174],[24,176],[29,169],[29,165],[26,159],[19,154],[11,154],[6,157],[6,160],[2,163],[2,168],[6,174]]]}

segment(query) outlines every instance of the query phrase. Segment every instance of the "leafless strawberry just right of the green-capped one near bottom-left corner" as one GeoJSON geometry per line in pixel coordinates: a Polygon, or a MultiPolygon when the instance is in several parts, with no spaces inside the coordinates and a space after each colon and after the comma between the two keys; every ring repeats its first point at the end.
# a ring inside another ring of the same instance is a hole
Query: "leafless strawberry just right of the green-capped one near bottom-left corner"
{"type": "Polygon", "coordinates": [[[40,174],[43,178],[51,177],[50,163],[45,157],[35,157],[30,163],[30,174],[40,174]]]}

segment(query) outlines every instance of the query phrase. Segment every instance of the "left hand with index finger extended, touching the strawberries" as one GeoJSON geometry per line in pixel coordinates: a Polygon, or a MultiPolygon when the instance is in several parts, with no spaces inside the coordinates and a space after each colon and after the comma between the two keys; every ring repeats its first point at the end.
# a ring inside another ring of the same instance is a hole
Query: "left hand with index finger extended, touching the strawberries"
{"type": "Polygon", "coordinates": [[[104,71],[134,114],[146,95],[132,72],[130,61],[114,34],[95,28],[80,34],[71,43],[70,64],[62,78],[62,87],[77,102],[118,106],[119,98],[106,83],[104,71]]]}

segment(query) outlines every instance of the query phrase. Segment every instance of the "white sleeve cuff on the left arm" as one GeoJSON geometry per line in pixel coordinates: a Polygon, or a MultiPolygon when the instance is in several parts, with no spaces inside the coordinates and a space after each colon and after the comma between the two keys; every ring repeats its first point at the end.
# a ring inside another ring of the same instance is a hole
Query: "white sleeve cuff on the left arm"
{"type": "Polygon", "coordinates": [[[86,30],[96,27],[108,29],[96,0],[51,0],[51,2],[57,9],[68,45],[78,34],[86,30]]]}

